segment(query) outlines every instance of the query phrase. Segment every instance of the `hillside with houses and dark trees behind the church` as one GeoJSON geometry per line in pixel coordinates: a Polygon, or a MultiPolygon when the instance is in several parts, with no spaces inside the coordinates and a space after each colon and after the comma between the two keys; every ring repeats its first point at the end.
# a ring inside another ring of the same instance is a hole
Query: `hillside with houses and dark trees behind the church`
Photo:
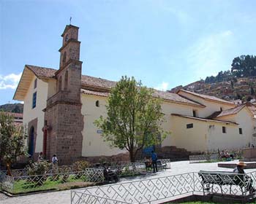
{"type": "Polygon", "coordinates": [[[169,92],[176,93],[184,89],[213,95],[236,104],[246,101],[254,103],[256,98],[255,56],[242,55],[234,58],[231,66],[231,71],[219,71],[217,76],[207,76],[205,80],[201,79],[186,86],[174,87],[169,92]]]}

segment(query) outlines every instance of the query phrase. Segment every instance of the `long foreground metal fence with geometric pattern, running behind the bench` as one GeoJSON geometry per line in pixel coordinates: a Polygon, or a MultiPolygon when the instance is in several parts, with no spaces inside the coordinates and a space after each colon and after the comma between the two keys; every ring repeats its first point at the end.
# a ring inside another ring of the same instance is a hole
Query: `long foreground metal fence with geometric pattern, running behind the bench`
{"type": "Polygon", "coordinates": [[[255,194],[255,175],[256,172],[237,174],[204,171],[89,187],[72,190],[71,203],[163,203],[196,192],[252,195],[255,194]]]}

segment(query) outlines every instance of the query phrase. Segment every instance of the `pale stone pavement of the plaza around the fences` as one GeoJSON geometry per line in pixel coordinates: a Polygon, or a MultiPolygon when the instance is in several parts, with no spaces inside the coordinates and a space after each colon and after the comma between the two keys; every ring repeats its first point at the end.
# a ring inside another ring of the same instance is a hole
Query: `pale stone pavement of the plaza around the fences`
{"type": "MultiPolygon", "coordinates": [[[[238,160],[233,161],[238,162],[238,160]]],[[[135,178],[122,178],[119,182],[137,181],[145,178],[154,178],[162,176],[170,176],[181,173],[198,172],[199,170],[227,170],[230,168],[218,168],[217,162],[214,163],[192,163],[189,161],[171,162],[171,168],[161,170],[158,173],[148,173],[146,176],[138,176],[135,178]]],[[[254,169],[245,170],[246,173],[254,171],[254,169]]],[[[47,192],[34,195],[23,195],[18,197],[7,197],[0,194],[0,204],[68,204],[70,203],[70,190],[60,192],[47,192]]]]}

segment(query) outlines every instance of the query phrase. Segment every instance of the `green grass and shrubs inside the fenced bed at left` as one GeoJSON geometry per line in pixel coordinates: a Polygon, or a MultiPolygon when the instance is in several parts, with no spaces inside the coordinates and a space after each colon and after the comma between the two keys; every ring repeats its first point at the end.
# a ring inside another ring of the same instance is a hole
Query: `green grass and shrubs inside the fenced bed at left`
{"type": "Polygon", "coordinates": [[[96,183],[86,181],[86,176],[75,178],[75,176],[69,176],[67,182],[62,181],[61,176],[53,181],[52,178],[47,178],[42,185],[36,185],[32,181],[20,180],[14,181],[12,194],[24,194],[28,192],[42,192],[48,190],[64,190],[75,189],[80,187],[93,186],[96,183]]]}

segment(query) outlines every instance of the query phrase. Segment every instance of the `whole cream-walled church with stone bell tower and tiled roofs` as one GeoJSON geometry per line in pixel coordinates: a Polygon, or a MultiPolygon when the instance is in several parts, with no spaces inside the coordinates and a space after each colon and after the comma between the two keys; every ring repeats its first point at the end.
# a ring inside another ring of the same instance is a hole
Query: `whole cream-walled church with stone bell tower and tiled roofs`
{"type": "MultiPolygon", "coordinates": [[[[82,75],[78,27],[68,25],[62,36],[59,69],[26,65],[14,99],[24,101],[23,124],[28,127],[32,157],[43,152],[47,159],[57,154],[61,164],[81,157],[94,158],[126,153],[111,149],[94,120],[106,117],[105,105],[116,82],[82,75]]],[[[247,106],[187,90],[162,98],[164,130],[171,135],[162,149],[177,146],[190,152],[242,148],[254,143],[256,120],[247,106]]],[[[160,148],[160,147],[159,147],[160,148]]]]}

